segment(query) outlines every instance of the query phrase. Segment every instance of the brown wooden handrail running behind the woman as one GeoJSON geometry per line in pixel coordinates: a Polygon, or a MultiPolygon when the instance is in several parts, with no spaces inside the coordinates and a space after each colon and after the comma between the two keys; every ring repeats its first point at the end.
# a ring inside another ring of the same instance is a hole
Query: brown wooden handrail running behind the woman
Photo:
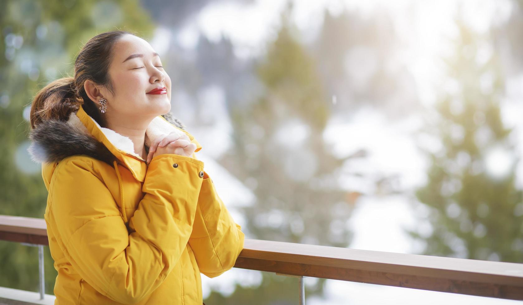
{"type": "MultiPolygon", "coordinates": [[[[48,244],[40,218],[0,215],[0,240],[48,244]]],[[[523,264],[246,239],[236,268],[523,300],[523,264]]]]}

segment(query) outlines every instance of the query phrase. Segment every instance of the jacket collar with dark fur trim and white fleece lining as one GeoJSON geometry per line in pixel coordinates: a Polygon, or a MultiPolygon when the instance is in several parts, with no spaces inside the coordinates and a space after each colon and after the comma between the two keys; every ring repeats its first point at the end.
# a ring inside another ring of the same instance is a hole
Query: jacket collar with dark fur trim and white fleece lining
{"type": "MultiPolygon", "coordinates": [[[[198,141],[185,130],[184,125],[170,113],[158,115],[145,131],[145,146],[162,134],[184,132],[196,150],[202,147],[198,141]]],[[[82,105],[72,112],[66,122],[48,120],[40,123],[29,134],[31,145],[28,148],[33,161],[38,163],[55,162],[72,156],[88,155],[107,162],[112,166],[114,160],[123,163],[141,182],[145,179],[147,165],[138,154],[134,153],[132,140],[109,128],[101,127],[89,116],[82,105]]]]}

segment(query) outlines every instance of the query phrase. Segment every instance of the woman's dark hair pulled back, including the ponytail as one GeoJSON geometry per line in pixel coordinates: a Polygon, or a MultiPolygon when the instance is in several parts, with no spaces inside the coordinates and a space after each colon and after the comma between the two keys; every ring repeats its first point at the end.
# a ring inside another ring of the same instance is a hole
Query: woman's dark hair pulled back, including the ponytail
{"type": "Polygon", "coordinates": [[[115,93],[108,73],[113,57],[112,47],[127,34],[137,36],[128,31],[108,31],[89,39],[74,61],[74,77],[52,81],[33,98],[29,116],[31,130],[44,120],[66,121],[80,105],[100,126],[105,127],[106,122],[97,104],[87,96],[84,83],[89,79],[115,93]]]}

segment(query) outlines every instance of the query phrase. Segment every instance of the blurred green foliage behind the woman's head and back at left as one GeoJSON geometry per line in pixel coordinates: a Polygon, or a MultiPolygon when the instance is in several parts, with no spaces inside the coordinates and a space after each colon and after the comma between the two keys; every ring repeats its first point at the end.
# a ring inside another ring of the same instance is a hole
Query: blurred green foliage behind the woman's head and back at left
{"type": "MultiPolygon", "coordinates": [[[[35,164],[22,156],[29,132],[28,116],[22,113],[32,97],[61,74],[73,75],[75,55],[97,33],[129,30],[147,39],[154,25],[144,12],[137,0],[0,2],[0,214],[42,218],[45,212],[40,166],[35,171],[35,164]]],[[[53,294],[57,273],[49,247],[44,249],[46,293],[53,294]]],[[[0,255],[0,286],[38,290],[36,247],[0,242],[0,255]]]]}

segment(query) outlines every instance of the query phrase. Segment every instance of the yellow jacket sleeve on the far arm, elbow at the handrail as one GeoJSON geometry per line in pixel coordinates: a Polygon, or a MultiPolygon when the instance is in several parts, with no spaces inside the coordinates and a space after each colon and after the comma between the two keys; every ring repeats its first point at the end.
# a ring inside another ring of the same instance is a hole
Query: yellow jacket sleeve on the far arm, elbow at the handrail
{"type": "Polygon", "coordinates": [[[202,274],[217,277],[234,266],[245,240],[241,228],[218,196],[211,178],[203,171],[195,222],[189,238],[202,274]]]}

